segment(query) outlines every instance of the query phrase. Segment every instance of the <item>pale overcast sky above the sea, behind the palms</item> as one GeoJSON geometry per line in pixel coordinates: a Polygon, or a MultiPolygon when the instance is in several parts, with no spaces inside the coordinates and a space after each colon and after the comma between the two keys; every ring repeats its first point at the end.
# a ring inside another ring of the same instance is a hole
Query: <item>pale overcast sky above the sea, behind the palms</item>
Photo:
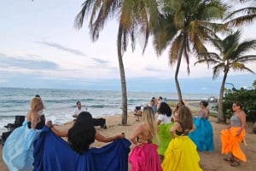
{"type": "MultiPolygon", "coordinates": [[[[88,25],[73,27],[83,0],[6,0],[0,7],[0,87],[84,88],[119,90],[119,63],[116,49],[117,20],[113,19],[92,43],[88,25]]],[[[246,26],[242,39],[256,38],[256,22],[246,26]]],[[[255,52],[253,52],[255,53],[255,52]]],[[[175,66],[165,52],[157,57],[149,40],[144,54],[140,43],[124,55],[127,89],[172,91],[175,66]]],[[[220,76],[212,81],[212,69],[186,66],[179,72],[182,91],[218,92],[220,76]]],[[[247,65],[256,71],[255,63],[247,65]]],[[[251,87],[255,75],[230,72],[227,82],[251,87]],[[237,80],[241,77],[242,80],[237,80]]]]}

